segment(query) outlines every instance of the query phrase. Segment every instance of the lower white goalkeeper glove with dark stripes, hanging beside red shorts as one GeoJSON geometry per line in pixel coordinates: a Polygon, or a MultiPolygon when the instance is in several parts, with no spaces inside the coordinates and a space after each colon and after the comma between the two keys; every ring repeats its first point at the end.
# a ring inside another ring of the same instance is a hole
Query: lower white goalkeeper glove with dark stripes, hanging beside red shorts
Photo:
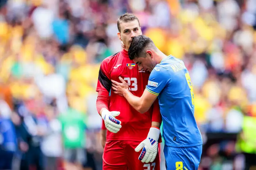
{"type": "Polygon", "coordinates": [[[158,128],[151,127],[147,134],[147,138],[143,140],[136,148],[135,151],[142,152],[139,156],[139,160],[143,163],[153,162],[158,152],[158,138],[160,130],[158,128]]]}

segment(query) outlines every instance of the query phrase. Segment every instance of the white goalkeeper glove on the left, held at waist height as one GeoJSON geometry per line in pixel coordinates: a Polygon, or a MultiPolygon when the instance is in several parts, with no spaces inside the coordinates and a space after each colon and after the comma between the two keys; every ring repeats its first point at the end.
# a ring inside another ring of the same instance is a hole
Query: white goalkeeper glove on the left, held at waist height
{"type": "Polygon", "coordinates": [[[101,112],[101,117],[104,120],[106,129],[108,129],[110,132],[117,133],[122,127],[121,121],[115,118],[119,114],[120,112],[117,112],[117,111],[110,112],[107,109],[101,112]]]}

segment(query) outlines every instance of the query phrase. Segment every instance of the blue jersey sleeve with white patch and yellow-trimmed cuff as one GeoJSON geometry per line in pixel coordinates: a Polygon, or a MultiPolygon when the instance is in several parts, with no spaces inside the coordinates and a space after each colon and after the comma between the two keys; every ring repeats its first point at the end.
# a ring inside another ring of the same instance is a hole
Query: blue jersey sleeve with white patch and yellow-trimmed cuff
{"type": "Polygon", "coordinates": [[[150,73],[146,89],[151,94],[158,96],[170,79],[171,75],[167,69],[156,66],[150,73]]]}

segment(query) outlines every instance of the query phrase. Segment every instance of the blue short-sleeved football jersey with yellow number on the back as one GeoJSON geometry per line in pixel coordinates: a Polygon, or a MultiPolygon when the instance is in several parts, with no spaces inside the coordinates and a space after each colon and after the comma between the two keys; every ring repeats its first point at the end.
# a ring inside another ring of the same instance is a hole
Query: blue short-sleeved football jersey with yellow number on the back
{"type": "Polygon", "coordinates": [[[146,89],[159,99],[165,145],[202,145],[194,117],[194,92],[183,61],[168,56],[152,70],[146,89]]]}

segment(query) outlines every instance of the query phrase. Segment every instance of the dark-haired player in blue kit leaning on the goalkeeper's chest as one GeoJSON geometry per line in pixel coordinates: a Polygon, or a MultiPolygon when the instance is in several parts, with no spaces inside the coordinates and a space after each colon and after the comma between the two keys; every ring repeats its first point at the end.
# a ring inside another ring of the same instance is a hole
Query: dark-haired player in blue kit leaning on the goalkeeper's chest
{"type": "Polygon", "coordinates": [[[133,38],[128,54],[138,64],[139,71],[151,72],[148,85],[143,95],[137,97],[119,77],[121,83],[112,81],[112,89],[140,113],[146,112],[158,97],[167,170],[198,169],[203,142],[194,117],[193,87],[184,63],[163,54],[144,35],[133,38]]]}

